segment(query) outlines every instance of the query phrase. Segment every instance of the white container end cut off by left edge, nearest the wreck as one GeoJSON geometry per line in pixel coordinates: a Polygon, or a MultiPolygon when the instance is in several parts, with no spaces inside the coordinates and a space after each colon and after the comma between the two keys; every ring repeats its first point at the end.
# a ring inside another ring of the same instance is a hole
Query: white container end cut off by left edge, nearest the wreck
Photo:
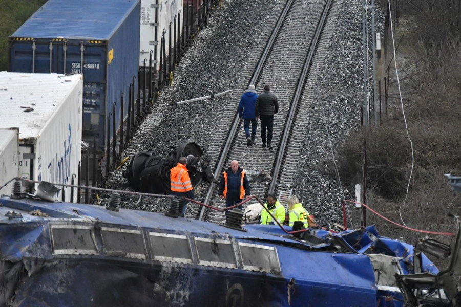
{"type": "MultiPolygon", "coordinates": [[[[18,129],[0,129],[0,187],[14,177],[18,177],[18,149],[18,129]]],[[[12,183],[8,184],[0,191],[0,194],[9,195],[12,186],[12,183]]]]}

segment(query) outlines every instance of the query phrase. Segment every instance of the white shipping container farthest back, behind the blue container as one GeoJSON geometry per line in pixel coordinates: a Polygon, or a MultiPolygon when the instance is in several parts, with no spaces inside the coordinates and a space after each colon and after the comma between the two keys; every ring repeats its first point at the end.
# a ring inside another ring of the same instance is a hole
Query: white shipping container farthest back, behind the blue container
{"type": "Polygon", "coordinates": [[[160,41],[165,32],[165,51],[166,57],[169,56],[169,43],[170,43],[170,23],[171,23],[171,48],[173,52],[174,47],[174,33],[176,32],[176,41],[178,38],[178,26],[180,35],[182,35],[182,14],[184,1],[183,0],[141,0],[141,29],[140,29],[140,55],[139,66],[144,65],[146,59],[146,66],[149,67],[149,54],[152,50],[152,67],[155,70],[159,69],[160,65],[160,41]],[[155,20],[155,11],[157,10],[157,20],[155,20]],[[181,12],[180,20],[179,11],[181,12]],[[174,30],[176,18],[176,31],[174,30]],[[157,33],[157,37],[155,34],[157,33]],[[155,48],[157,46],[157,48],[155,48]],[[155,50],[157,49],[157,56],[155,57],[155,50]],[[154,64],[154,59],[157,63],[154,64]]]}

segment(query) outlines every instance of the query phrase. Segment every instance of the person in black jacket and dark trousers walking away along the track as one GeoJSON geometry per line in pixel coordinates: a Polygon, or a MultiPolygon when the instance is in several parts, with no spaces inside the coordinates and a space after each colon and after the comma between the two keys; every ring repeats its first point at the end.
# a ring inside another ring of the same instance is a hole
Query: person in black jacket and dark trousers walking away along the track
{"type": "Polygon", "coordinates": [[[279,102],[276,95],[270,93],[269,83],[264,84],[264,92],[256,99],[255,115],[256,120],[261,118],[261,139],[262,147],[266,147],[266,128],[267,128],[267,149],[272,149],[272,128],[274,127],[274,114],[279,111],[279,102]]]}

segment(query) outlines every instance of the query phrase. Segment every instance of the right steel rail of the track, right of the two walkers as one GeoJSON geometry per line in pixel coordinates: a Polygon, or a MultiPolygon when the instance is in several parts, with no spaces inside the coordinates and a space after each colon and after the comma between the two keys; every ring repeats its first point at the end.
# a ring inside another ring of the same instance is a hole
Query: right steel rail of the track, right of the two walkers
{"type": "Polygon", "coordinates": [[[309,73],[309,70],[311,68],[312,59],[315,55],[317,45],[320,40],[320,36],[322,35],[323,29],[326,23],[326,19],[328,18],[328,13],[330,12],[332,3],[333,3],[333,0],[327,0],[327,2],[325,3],[325,8],[323,9],[322,16],[320,17],[319,23],[317,24],[316,32],[312,38],[309,52],[307,53],[306,60],[304,61],[303,71],[298,79],[298,85],[296,87],[295,96],[293,97],[291,101],[290,112],[285,122],[286,128],[284,130],[283,137],[281,139],[281,142],[278,148],[277,160],[273,167],[272,181],[270,182],[269,189],[268,189],[269,193],[274,193],[276,184],[278,182],[280,169],[282,166],[283,158],[285,156],[285,150],[286,150],[286,147],[288,145],[288,140],[291,135],[291,125],[294,122],[295,115],[298,109],[298,102],[300,100],[301,94],[304,89],[304,82],[306,81],[307,74],[309,73]]]}

